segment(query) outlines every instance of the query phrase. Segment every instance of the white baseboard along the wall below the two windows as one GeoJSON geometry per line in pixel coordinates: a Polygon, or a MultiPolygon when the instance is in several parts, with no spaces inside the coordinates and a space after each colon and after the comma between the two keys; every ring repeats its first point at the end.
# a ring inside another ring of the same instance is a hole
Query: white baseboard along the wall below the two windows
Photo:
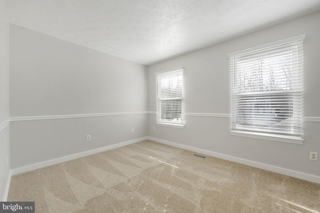
{"type": "Polygon", "coordinates": [[[245,160],[245,159],[236,158],[236,157],[232,157],[232,156],[228,156],[228,155],[223,155],[223,154],[219,154],[219,153],[215,153],[215,152],[210,152],[210,151],[207,151],[207,150],[202,150],[202,149],[189,147],[189,146],[185,146],[185,145],[181,145],[181,144],[176,144],[176,143],[172,143],[172,142],[169,142],[169,141],[160,140],[160,139],[157,139],[157,138],[147,137],[147,139],[150,140],[150,141],[155,141],[155,142],[166,144],[166,145],[169,145],[169,146],[173,146],[173,147],[177,147],[177,148],[181,148],[181,149],[185,149],[185,150],[201,153],[201,154],[212,156],[212,157],[215,157],[215,158],[220,158],[220,159],[224,159],[224,160],[227,160],[227,161],[232,161],[232,162],[235,162],[235,163],[244,164],[244,165],[247,165],[247,166],[251,166],[251,167],[255,167],[255,168],[259,168],[259,169],[263,169],[263,170],[267,170],[267,171],[279,173],[279,174],[282,174],[282,175],[287,175],[287,176],[291,176],[291,177],[294,177],[294,178],[299,178],[299,179],[302,179],[302,180],[306,180],[306,181],[310,181],[310,182],[314,182],[314,183],[320,184],[320,177],[318,177],[318,176],[309,175],[309,174],[305,174],[305,173],[300,173],[300,172],[296,172],[296,171],[293,171],[293,170],[288,170],[288,169],[275,167],[275,166],[271,166],[271,165],[267,165],[267,164],[261,164],[261,163],[257,163],[257,162],[254,162],[254,161],[248,161],[248,160],[245,160]]]}

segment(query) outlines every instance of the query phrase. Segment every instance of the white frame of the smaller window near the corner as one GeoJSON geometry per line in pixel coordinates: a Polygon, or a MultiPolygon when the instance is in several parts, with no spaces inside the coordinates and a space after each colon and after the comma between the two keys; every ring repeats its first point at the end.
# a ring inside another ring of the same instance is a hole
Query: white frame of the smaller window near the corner
{"type": "Polygon", "coordinates": [[[156,125],[158,126],[167,126],[167,127],[175,127],[175,128],[184,128],[184,110],[183,110],[183,102],[184,102],[184,98],[183,98],[183,67],[176,67],[176,68],[172,68],[172,69],[167,69],[167,70],[163,70],[160,72],[156,72],[154,73],[155,75],[155,94],[156,94],[156,125]],[[174,97],[174,98],[160,98],[160,90],[158,88],[158,80],[161,77],[166,77],[166,76],[173,76],[176,74],[182,74],[182,79],[181,79],[181,96],[178,97],[174,97]],[[181,121],[168,121],[165,119],[161,119],[161,101],[165,101],[165,100],[181,100],[181,116],[180,119],[181,121]]]}

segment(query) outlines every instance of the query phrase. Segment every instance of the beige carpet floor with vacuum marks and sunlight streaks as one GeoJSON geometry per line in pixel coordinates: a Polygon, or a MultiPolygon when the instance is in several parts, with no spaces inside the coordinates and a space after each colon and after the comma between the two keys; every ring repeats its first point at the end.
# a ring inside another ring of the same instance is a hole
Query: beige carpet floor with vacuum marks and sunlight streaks
{"type": "Polygon", "coordinates": [[[320,184],[143,141],[12,176],[37,213],[320,213],[320,184]]]}

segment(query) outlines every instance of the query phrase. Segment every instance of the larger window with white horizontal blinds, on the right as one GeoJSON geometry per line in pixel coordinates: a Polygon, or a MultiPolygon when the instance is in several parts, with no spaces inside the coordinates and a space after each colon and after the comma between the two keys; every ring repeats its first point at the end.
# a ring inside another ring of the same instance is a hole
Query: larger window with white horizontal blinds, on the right
{"type": "Polygon", "coordinates": [[[302,144],[303,39],[229,54],[231,135],[302,144]]]}

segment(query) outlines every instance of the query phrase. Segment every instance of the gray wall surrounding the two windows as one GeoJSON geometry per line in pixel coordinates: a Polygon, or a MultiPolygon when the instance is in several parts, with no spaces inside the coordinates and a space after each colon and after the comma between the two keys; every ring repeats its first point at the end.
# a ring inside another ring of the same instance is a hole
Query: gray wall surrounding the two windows
{"type": "MultiPolygon", "coordinates": [[[[228,53],[306,34],[304,40],[304,144],[229,135],[229,118],[185,115],[184,129],[156,126],[148,115],[148,135],[178,145],[253,161],[309,175],[320,176],[320,11],[255,31],[216,45],[148,66],[148,111],[156,111],[154,72],[184,67],[184,111],[229,114],[228,53]],[[152,127],[155,126],[155,131],[152,127]]],[[[222,115],[223,116],[223,115],[222,115]]]]}

